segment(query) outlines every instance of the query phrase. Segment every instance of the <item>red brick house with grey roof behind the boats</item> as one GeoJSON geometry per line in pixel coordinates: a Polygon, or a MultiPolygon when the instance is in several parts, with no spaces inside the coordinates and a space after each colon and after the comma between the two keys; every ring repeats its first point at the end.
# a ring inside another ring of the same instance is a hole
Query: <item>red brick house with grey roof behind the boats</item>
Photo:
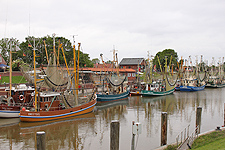
{"type": "Polygon", "coordinates": [[[146,60],[144,58],[123,58],[119,63],[120,68],[134,69],[136,72],[144,72],[145,66],[146,60]]]}

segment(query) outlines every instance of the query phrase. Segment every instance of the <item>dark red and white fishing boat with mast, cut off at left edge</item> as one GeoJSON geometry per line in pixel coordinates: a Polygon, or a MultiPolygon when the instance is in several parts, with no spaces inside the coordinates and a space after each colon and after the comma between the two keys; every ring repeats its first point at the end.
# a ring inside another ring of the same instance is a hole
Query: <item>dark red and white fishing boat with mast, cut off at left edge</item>
{"type": "Polygon", "coordinates": [[[5,88],[7,95],[0,97],[0,118],[18,118],[22,107],[33,107],[31,93],[34,88],[25,84],[12,86],[12,42],[10,44],[10,77],[9,87],[5,88]]]}

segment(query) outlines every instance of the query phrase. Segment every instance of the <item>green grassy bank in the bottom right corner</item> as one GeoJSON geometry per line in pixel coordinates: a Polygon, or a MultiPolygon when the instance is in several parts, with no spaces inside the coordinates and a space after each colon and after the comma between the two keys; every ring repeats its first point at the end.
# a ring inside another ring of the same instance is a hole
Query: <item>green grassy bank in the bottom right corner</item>
{"type": "Polygon", "coordinates": [[[192,149],[196,150],[225,150],[225,130],[215,131],[197,138],[192,149]]]}

